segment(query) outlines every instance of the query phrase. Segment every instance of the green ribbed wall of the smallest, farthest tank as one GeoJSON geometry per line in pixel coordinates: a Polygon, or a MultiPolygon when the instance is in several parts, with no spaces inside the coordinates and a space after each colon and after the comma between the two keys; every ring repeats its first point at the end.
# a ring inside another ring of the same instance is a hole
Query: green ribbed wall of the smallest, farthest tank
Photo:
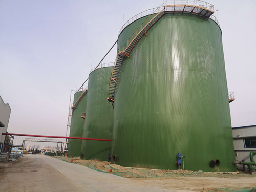
{"type": "MultiPolygon", "coordinates": [[[[82,91],[76,92],[74,94],[74,103],[82,94],[82,91]]],[[[83,96],[81,101],[76,106],[76,109],[72,112],[72,119],[70,125],[70,137],[82,137],[84,119],[81,118],[81,113],[86,112],[87,106],[87,94],[83,96]]],[[[79,139],[69,139],[68,146],[68,156],[69,157],[80,157],[81,154],[81,145],[84,141],[79,139]],[[74,152],[73,152],[74,150],[74,152]]]]}

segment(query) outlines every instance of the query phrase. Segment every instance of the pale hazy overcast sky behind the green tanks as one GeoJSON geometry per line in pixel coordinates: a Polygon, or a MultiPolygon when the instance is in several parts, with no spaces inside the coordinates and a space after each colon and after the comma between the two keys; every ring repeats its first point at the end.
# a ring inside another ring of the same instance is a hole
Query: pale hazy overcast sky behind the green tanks
{"type": "MultiPolygon", "coordinates": [[[[0,95],[12,109],[8,132],[65,136],[70,90],[81,86],[117,40],[123,16],[126,22],[162,3],[1,0],[0,95]]],[[[254,125],[256,1],[209,3],[218,9],[228,91],[236,97],[232,126],[254,125]]],[[[114,62],[115,53],[116,47],[104,62],[114,62]]],[[[22,140],[16,137],[17,144],[22,140]]]]}

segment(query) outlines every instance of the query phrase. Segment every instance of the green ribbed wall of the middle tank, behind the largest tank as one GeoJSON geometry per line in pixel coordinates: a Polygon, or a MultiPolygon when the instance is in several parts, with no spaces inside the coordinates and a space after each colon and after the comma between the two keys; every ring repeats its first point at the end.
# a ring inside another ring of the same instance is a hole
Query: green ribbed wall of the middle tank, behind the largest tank
{"type": "MultiPolygon", "coordinates": [[[[84,138],[112,139],[114,110],[106,100],[112,68],[100,68],[89,75],[84,138]]],[[[82,146],[83,159],[107,161],[110,148],[109,141],[87,140],[82,146]]]]}

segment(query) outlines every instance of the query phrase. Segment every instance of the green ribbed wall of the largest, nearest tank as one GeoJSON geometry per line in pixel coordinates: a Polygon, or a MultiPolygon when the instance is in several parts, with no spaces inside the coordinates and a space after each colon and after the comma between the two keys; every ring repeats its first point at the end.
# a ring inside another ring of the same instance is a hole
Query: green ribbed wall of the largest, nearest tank
{"type": "MultiPolygon", "coordinates": [[[[141,19],[142,20],[142,19],[141,19]]],[[[125,42],[140,22],[118,38],[125,42]]],[[[113,155],[130,167],[235,171],[222,47],[211,19],[165,14],[122,63],[115,90],[113,155]],[[211,160],[220,166],[210,168],[211,160]]]]}

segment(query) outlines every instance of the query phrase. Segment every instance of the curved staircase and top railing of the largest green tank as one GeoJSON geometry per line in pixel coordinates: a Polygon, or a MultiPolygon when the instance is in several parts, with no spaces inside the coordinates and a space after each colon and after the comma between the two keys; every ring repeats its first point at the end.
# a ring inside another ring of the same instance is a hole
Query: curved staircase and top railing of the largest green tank
{"type": "Polygon", "coordinates": [[[122,26],[121,30],[119,31],[119,35],[125,27],[127,27],[135,20],[142,17],[144,20],[130,36],[130,38],[123,42],[124,45],[121,45],[117,50],[117,57],[112,70],[108,93],[108,100],[112,103],[113,108],[115,101],[115,89],[118,84],[119,71],[121,69],[124,58],[129,57],[130,52],[135,47],[137,42],[142,38],[144,34],[147,36],[147,30],[149,30],[151,26],[153,26],[165,13],[172,13],[173,15],[176,13],[186,13],[190,15],[197,15],[204,20],[212,18],[219,25],[218,20],[212,15],[214,13],[214,6],[199,0],[164,0],[164,3],[158,8],[146,10],[129,19],[122,26]]]}

